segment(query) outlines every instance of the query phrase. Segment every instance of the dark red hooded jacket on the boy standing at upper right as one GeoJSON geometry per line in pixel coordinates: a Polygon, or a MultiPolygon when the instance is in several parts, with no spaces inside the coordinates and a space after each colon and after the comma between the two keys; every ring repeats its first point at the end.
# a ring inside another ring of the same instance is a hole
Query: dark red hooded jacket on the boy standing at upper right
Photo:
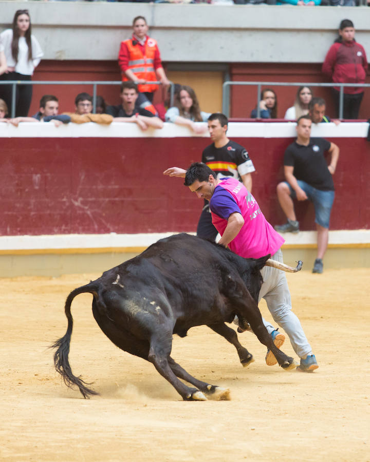
{"type": "MultiPolygon", "coordinates": [[[[367,60],[363,46],[355,41],[332,44],[322,65],[322,72],[333,82],[365,83],[367,60]]],[[[339,90],[339,87],[335,88],[339,90]]],[[[344,87],[344,93],[362,92],[361,87],[344,87]]]]}

